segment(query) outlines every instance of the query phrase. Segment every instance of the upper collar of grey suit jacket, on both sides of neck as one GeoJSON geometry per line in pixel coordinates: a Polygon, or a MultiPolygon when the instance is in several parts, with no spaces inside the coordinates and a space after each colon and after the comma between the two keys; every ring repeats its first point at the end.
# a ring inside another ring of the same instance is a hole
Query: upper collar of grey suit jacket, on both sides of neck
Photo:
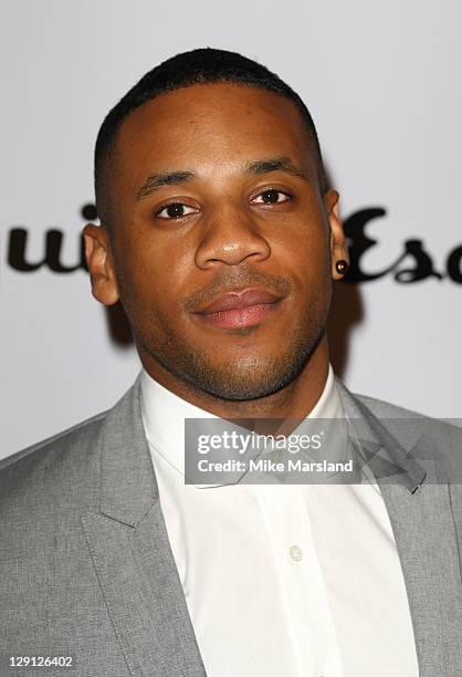
{"type": "MultiPolygon", "coordinates": [[[[403,485],[414,492],[427,476],[412,452],[418,433],[406,440],[397,439],[339,379],[337,386],[359,441],[358,452],[377,481],[403,485]]],[[[159,496],[143,426],[139,377],[108,412],[101,436],[101,511],[136,527],[159,496]]]]}

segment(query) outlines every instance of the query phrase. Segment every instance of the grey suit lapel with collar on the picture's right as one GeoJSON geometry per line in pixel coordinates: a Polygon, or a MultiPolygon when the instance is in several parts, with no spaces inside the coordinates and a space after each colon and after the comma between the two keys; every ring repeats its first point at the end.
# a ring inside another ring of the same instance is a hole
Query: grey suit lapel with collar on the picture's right
{"type": "MultiPolygon", "coordinates": [[[[435,449],[418,444],[419,424],[401,425],[408,439],[382,423],[340,385],[345,410],[380,487],[401,562],[421,677],[459,674],[462,666],[462,587],[451,489],[438,476],[435,449]]],[[[397,421],[395,421],[397,423],[397,421]]],[[[400,426],[397,426],[398,429],[400,426]]]]}

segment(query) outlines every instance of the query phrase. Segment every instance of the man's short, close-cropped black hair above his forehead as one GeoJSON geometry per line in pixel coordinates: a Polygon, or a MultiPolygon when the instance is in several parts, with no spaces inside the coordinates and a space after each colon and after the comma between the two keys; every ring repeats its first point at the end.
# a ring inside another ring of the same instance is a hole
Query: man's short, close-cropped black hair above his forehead
{"type": "MultiPolygon", "coordinates": [[[[316,127],[309,111],[296,92],[264,65],[237,52],[202,48],[177,54],[146,73],[109,111],[99,128],[95,146],[96,208],[102,221],[111,220],[107,196],[107,171],[117,132],[124,119],[147,101],[180,87],[195,84],[230,82],[275,92],[292,101],[314,142],[317,171],[322,191],[326,190],[326,177],[316,127]]],[[[108,223],[107,223],[108,225],[108,223]]]]}

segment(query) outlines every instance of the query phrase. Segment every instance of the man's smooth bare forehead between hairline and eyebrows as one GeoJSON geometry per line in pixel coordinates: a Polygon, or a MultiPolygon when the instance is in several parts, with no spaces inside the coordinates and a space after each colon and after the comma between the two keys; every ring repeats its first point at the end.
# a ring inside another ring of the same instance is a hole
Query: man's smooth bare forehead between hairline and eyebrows
{"type": "Polygon", "coordinates": [[[130,113],[118,132],[118,173],[140,180],[153,168],[201,168],[288,156],[312,170],[313,140],[290,100],[234,83],[160,94],[130,113]]]}

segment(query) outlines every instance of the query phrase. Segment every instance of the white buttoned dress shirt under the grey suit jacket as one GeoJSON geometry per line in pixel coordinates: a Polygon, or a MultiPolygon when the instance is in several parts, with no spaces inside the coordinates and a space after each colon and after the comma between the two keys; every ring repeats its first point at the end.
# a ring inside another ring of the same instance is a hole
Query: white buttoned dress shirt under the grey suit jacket
{"type": "MultiPolygon", "coordinates": [[[[185,485],[183,420],[211,414],[146,372],[141,407],[208,677],[418,677],[377,485],[185,485]]],[[[343,416],[329,367],[309,417],[343,416]]]]}

